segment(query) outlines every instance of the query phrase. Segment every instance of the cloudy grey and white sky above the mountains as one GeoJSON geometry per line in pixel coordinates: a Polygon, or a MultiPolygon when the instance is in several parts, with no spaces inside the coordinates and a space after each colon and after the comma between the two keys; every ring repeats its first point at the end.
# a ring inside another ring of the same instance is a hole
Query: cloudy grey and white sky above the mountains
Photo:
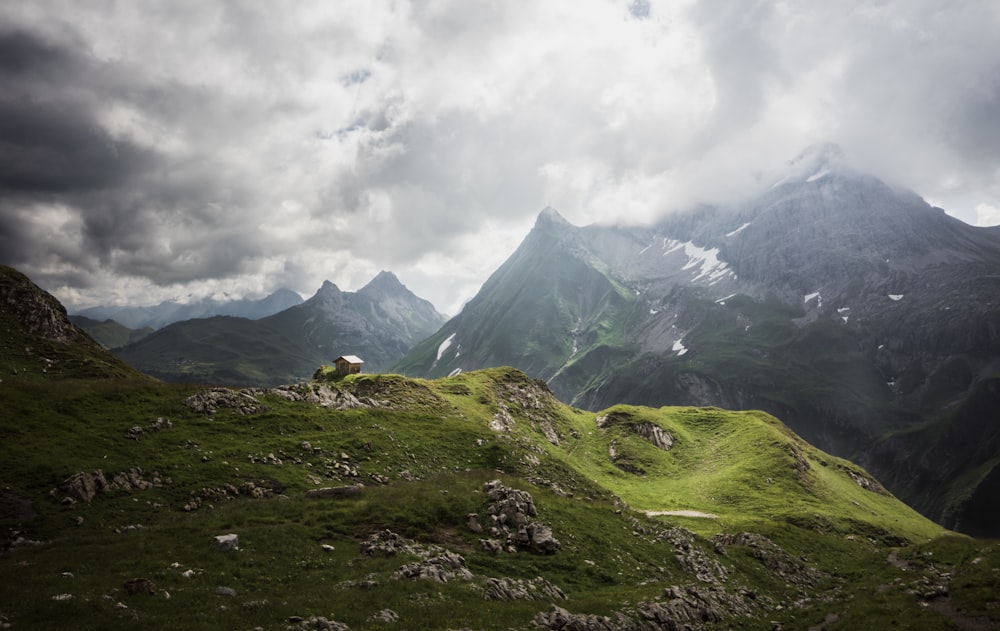
{"type": "Polygon", "coordinates": [[[547,205],[643,222],[807,145],[1000,223],[996,0],[6,0],[0,262],[71,306],[454,314],[547,205]]]}

